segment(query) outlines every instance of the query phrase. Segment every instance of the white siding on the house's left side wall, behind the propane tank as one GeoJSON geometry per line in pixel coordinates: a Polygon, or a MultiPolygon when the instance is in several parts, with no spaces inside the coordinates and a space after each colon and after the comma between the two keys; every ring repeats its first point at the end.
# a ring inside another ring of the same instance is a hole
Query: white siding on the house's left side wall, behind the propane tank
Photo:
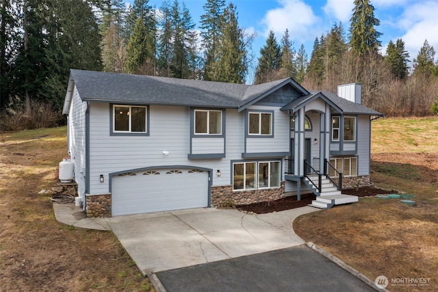
{"type": "Polygon", "coordinates": [[[68,112],[68,135],[70,158],[75,162],[75,181],[80,197],[86,192],[86,110],[87,103],[81,101],[76,86],[73,88],[73,98],[68,112]]]}

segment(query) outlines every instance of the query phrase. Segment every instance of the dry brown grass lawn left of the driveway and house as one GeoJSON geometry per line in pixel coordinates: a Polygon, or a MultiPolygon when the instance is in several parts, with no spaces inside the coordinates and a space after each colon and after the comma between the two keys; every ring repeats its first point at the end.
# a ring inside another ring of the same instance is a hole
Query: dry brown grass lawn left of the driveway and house
{"type": "Polygon", "coordinates": [[[111,232],[55,220],[66,127],[0,134],[0,291],[151,291],[111,232]]]}

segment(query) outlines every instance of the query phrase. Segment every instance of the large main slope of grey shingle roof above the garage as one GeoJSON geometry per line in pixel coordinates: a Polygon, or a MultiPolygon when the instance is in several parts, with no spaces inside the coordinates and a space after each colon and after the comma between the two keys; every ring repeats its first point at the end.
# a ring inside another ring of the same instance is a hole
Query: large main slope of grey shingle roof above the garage
{"type": "Polygon", "coordinates": [[[236,108],[248,85],[71,70],[81,99],[236,108]]]}

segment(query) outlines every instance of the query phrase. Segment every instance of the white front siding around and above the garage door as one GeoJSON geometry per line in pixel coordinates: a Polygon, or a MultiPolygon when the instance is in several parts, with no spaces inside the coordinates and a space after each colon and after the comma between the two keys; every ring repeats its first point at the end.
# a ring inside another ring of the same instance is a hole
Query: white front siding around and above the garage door
{"type": "Polygon", "coordinates": [[[226,110],[226,158],[189,160],[189,109],[178,106],[151,106],[149,112],[149,136],[110,136],[110,105],[91,104],[90,193],[109,191],[108,173],[166,165],[190,165],[212,169],[212,186],[230,184],[231,160],[242,159],[243,113],[234,109],[226,110]],[[168,151],[168,156],[164,156],[163,151],[168,151]],[[216,176],[217,170],[222,173],[220,177],[216,176]],[[99,182],[101,174],[105,178],[103,183],[99,182]]]}

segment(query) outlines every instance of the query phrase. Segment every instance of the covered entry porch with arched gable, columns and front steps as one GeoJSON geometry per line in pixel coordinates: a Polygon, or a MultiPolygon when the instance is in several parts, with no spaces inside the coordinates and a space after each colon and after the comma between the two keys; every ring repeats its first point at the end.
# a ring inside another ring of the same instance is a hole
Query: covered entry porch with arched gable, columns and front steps
{"type": "Polygon", "coordinates": [[[343,175],[330,164],[332,114],[341,115],[342,110],[322,93],[296,99],[282,110],[291,121],[285,180],[296,185],[297,199],[310,190],[317,196],[311,206],[317,208],[357,202],[356,196],[342,195],[343,175]]]}

